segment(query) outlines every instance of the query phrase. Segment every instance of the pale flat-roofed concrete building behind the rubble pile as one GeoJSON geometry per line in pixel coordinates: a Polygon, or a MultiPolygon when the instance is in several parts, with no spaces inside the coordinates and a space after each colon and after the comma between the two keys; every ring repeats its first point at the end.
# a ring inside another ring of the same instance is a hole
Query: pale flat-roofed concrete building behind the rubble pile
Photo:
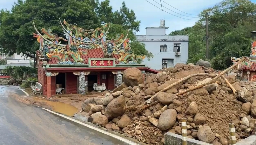
{"type": "Polygon", "coordinates": [[[136,41],[145,44],[154,57],[144,59],[146,66],[152,69],[174,67],[176,63],[186,63],[188,59],[188,36],[166,35],[165,20],[160,20],[160,27],[146,27],[146,35],[136,35],[136,41]]]}

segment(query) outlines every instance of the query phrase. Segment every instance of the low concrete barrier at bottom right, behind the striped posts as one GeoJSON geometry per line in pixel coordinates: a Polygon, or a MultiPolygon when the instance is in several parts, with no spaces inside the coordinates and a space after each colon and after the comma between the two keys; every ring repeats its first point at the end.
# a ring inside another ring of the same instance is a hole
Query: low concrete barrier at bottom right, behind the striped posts
{"type": "MultiPolygon", "coordinates": [[[[182,145],[182,136],[172,132],[165,133],[165,145],[182,145]]],[[[187,145],[212,145],[199,140],[187,138],[187,145]]],[[[256,145],[256,136],[249,136],[246,139],[237,142],[236,145],[256,145]]]]}

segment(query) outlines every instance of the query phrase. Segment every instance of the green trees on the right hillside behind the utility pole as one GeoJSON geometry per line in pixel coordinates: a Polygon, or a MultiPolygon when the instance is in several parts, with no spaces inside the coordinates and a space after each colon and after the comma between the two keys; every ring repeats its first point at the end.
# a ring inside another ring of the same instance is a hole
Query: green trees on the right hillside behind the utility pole
{"type": "Polygon", "coordinates": [[[249,0],[225,0],[203,10],[192,27],[176,30],[170,35],[189,35],[188,63],[205,58],[205,20],[208,14],[209,60],[215,69],[225,69],[230,57],[249,56],[251,32],[256,30],[256,4],[249,0]]]}

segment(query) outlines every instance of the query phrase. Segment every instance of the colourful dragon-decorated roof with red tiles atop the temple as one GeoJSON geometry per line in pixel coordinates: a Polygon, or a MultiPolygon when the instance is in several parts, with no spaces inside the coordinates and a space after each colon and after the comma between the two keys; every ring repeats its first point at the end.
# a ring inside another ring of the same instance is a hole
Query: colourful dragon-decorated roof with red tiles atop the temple
{"type": "MultiPolygon", "coordinates": [[[[60,19],[59,19],[60,20],[60,19]]],[[[60,20],[64,32],[63,37],[53,33],[51,29],[41,29],[40,33],[34,22],[36,33],[33,33],[40,43],[39,57],[55,59],[57,64],[84,64],[90,57],[114,57],[116,63],[137,64],[145,56],[136,56],[130,48],[130,39],[127,34],[117,35],[116,38],[107,40],[110,23],[95,29],[87,30],[60,20]],[[63,44],[68,42],[67,44],[63,44]]]]}

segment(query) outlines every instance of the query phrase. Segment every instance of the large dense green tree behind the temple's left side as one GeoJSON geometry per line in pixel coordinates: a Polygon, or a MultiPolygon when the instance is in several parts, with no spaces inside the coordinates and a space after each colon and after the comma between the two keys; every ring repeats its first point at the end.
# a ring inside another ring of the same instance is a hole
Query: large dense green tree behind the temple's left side
{"type": "Polygon", "coordinates": [[[61,34],[61,20],[71,21],[79,27],[93,29],[99,26],[99,19],[90,0],[18,0],[11,10],[0,12],[0,45],[2,53],[10,55],[22,52],[33,57],[39,49],[32,36],[35,32],[32,22],[38,28],[51,28],[61,34]]]}

